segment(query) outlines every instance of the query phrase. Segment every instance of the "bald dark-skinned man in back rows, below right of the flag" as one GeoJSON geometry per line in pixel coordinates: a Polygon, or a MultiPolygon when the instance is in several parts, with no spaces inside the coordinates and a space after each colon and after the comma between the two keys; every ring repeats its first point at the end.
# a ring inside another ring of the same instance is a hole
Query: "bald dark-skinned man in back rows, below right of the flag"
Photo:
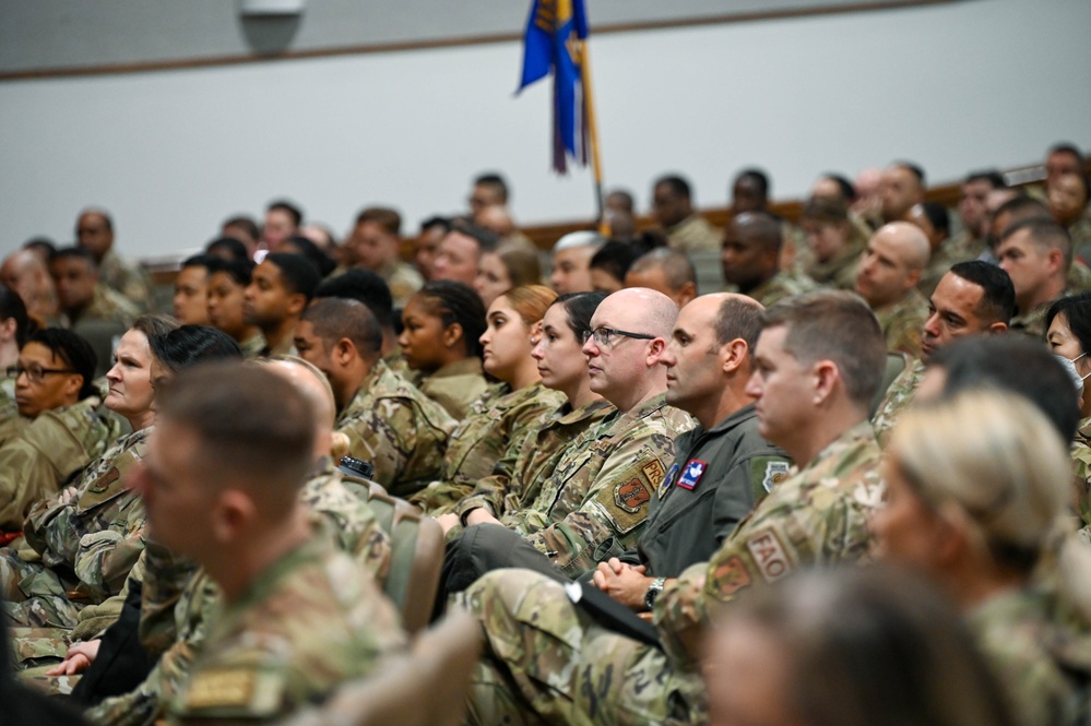
{"type": "Polygon", "coordinates": [[[764,212],[736,214],[724,227],[724,282],[763,306],[815,289],[809,278],[780,269],[781,224],[764,212]]]}

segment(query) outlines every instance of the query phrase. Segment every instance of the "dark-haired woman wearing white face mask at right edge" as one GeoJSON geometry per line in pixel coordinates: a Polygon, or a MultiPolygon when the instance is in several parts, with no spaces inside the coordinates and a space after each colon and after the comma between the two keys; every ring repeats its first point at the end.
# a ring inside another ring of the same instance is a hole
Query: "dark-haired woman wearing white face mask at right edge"
{"type": "Polygon", "coordinates": [[[1062,365],[1072,376],[1080,396],[1080,425],[1072,440],[1071,454],[1076,464],[1076,502],[1083,535],[1091,536],[1091,293],[1063,297],[1045,313],[1045,342],[1050,350],[1062,358],[1062,365]]]}

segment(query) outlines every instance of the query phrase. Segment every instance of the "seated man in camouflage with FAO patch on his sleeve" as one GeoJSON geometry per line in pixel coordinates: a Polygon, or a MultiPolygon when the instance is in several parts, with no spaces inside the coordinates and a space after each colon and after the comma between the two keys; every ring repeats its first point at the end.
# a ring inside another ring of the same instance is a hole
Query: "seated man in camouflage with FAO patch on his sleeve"
{"type": "Polygon", "coordinates": [[[846,293],[793,298],[762,323],[747,391],[761,435],[798,467],[709,562],[664,588],[653,611],[659,646],[598,624],[570,599],[574,588],[537,573],[494,572],[474,583],[459,598],[488,640],[473,723],[703,723],[699,645],[736,593],[866,554],[867,516],[881,492],[867,412],[886,357],[882,332],[846,293]]]}

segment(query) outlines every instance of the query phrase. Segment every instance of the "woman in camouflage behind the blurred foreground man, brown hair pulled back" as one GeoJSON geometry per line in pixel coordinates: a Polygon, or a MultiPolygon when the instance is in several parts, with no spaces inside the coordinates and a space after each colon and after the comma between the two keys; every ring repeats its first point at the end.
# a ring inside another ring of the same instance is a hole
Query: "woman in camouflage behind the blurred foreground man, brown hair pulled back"
{"type": "Polygon", "coordinates": [[[0,585],[13,624],[74,628],[85,606],[117,595],[137,561],[139,538],[131,538],[132,525],[142,521],[135,510],[143,508],[123,480],[143,455],[154,416],[149,337],[173,328],[165,317],[144,316],[121,336],[116,362],[106,374],[109,393],[104,403],[126,418],[133,432],[87,466],[74,486],[35,504],[17,547],[0,549],[0,585]],[[117,569],[105,572],[104,558],[126,543],[131,557],[110,558],[117,569]]]}

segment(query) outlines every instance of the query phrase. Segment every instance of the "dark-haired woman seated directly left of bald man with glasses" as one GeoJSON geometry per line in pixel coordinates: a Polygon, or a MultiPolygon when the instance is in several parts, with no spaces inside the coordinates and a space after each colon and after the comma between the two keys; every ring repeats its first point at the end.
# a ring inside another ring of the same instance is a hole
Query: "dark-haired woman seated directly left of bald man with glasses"
{"type": "Polygon", "coordinates": [[[571,293],[561,295],[546,310],[531,356],[542,384],[565,394],[565,402],[545,416],[522,445],[508,448],[493,474],[477,483],[454,514],[440,517],[446,529],[460,523],[499,519],[505,512],[533,502],[566,447],[614,410],[609,402],[591,390],[582,350],[583,337],[591,333],[591,316],[605,298],[604,293],[571,293]]]}

